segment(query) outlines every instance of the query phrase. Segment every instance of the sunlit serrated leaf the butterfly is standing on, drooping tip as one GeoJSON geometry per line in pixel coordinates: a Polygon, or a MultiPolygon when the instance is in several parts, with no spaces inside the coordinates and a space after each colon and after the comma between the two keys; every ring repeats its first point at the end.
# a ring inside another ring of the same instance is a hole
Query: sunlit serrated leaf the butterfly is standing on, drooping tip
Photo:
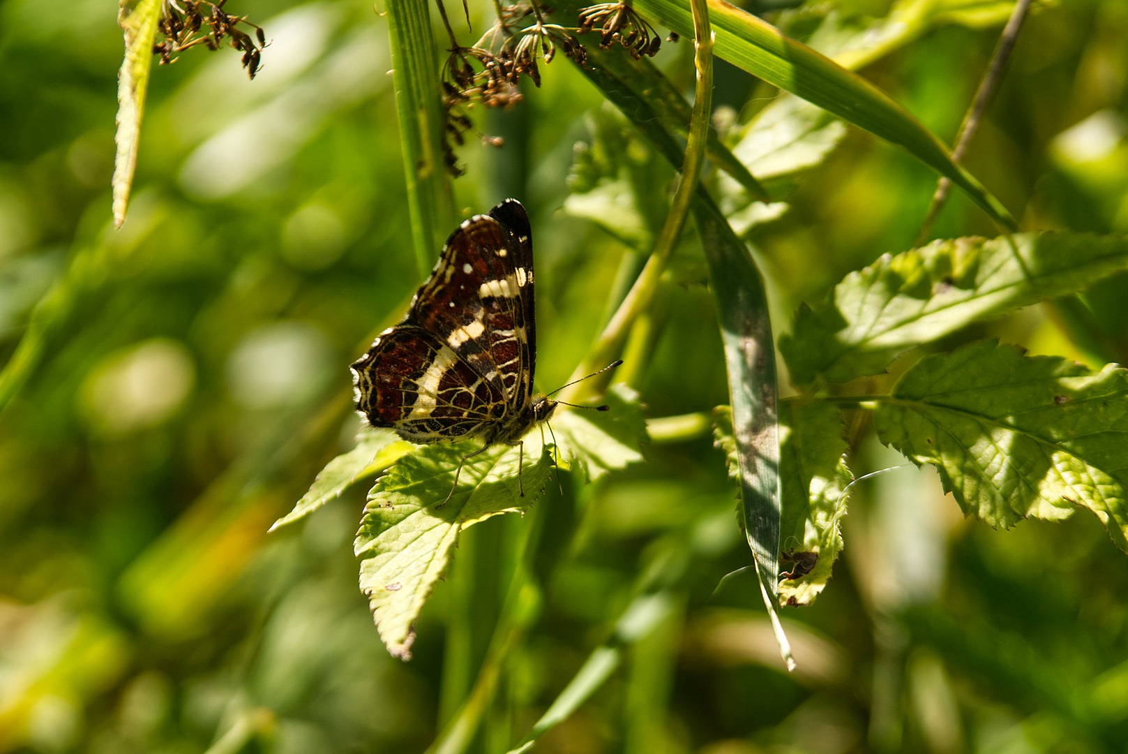
{"type": "Polygon", "coordinates": [[[550,445],[539,433],[525,438],[518,492],[519,448],[497,445],[466,462],[450,499],[459,461],[481,448],[474,440],[428,445],[380,477],[353,543],[360,588],[388,651],[411,659],[412,624],[450,564],[464,528],[532,505],[553,467],[550,445]]]}

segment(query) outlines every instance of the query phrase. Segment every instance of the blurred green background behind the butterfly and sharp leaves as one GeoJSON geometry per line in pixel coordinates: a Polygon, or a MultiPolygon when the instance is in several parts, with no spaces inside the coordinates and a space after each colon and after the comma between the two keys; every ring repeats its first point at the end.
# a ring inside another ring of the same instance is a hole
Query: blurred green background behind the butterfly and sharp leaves
{"type": "MultiPolygon", "coordinates": [[[[351,447],[346,366],[420,280],[384,20],[363,2],[237,1],[227,9],[272,42],[258,77],[232,50],[155,69],[116,231],[114,3],[0,2],[0,360],[17,354],[6,374],[25,378],[0,414],[0,752],[423,751],[500,610],[515,516],[467,534],[408,664],[386,654],[356,588],[363,490],[266,534],[351,447]]],[[[750,9],[818,45],[818,29],[864,38],[929,2],[790,5],[750,9]]],[[[951,140],[1011,6],[931,5],[962,15],[933,14],[863,73],[951,140]]],[[[485,12],[470,9],[478,33],[485,12]]],[[[690,54],[667,44],[656,62],[689,86],[690,54]]],[[[519,107],[477,113],[506,146],[472,134],[455,186],[467,213],[508,195],[530,210],[550,389],[635,253],[584,219],[600,155],[655,187],[672,172],[563,56],[543,74],[519,107]]],[[[1023,229],[1128,230],[1126,80],[1128,2],[1036,3],[966,160],[1023,229]]],[[[716,85],[722,126],[776,94],[720,61],[716,85]]],[[[847,129],[791,209],[749,230],[777,332],[846,272],[908,248],[934,182],[847,129]]],[[[955,194],[934,235],[971,234],[995,231],[955,194]]],[[[627,365],[652,418],[728,402],[694,243],[645,359],[627,365]]],[[[1122,361],[1128,280],[1087,303],[1122,361]]],[[[953,344],[989,335],[1091,359],[1049,308],[953,344]]],[[[855,453],[858,475],[900,458],[865,435],[855,453]]],[[[540,616],[506,656],[475,751],[520,739],[641,591],[655,628],[537,751],[1128,751],[1128,561],[1093,517],[996,532],[963,520],[931,471],[860,483],[835,578],[812,607],[783,611],[800,663],[787,675],[755,581],[714,594],[749,562],[721,451],[700,436],[645,455],[541,497],[540,616]]]]}

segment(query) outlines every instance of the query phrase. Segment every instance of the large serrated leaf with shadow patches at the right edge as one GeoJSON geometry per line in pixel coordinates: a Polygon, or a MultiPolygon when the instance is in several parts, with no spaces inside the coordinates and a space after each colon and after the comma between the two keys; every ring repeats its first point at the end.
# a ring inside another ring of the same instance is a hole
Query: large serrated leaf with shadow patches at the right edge
{"type": "Polygon", "coordinates": [[[873,423],[935,465],[964,512],[1010,527],[1089,508],[1128,552],[1128,370],[981,341],[917,362],[876,398],[873,423]]]}

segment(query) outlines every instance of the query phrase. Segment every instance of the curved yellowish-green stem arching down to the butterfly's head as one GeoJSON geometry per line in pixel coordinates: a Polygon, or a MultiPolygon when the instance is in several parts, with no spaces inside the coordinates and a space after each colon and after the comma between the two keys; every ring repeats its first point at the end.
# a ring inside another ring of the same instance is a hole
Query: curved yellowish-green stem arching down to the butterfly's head
{"type": "MultiPolygon", "coordinates": [[[[678,186],[673,192],[673,200],[670,202],[670,213],[666,218],[662,231],[654,244],[654,252],[646,262],[646,266],[643,268],[642,274],[635,280],[626,298],[623,299],[623,304],[611,316],[611,321],[607,323],[588,357],[573,372],[572,379],[580,379],[584,375],[601,369],[622,353],[627,336],[631,334],[632,325],[640,314],[650,308],[654,295],[658,292],[662,273],[666,272],[666,265],[675,246],[677,246],[681,229],[686,223],[686,217],[689,214],[689,205],[693,202],[694,192],[697,190],[702,165],[705,161],[710,117],[713,113],[713,33],[710,28],[708,9],[704,0],[694,0],[693,14],[694,65],[697,69],[697,84],[694,91],[694,109],[689,120],[689,139],[686,143],[686,155],[678,186]]],[[[575,403],[583,395],[599,392],[608,378],[576,383],[562,392],[561,400],[565,403],[575,403]]]]}

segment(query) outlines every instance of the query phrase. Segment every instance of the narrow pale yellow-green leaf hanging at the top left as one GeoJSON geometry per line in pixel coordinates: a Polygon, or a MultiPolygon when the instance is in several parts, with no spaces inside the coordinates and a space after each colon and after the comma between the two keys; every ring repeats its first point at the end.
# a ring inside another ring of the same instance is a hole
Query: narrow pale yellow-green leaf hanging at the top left
{"type": "Polygon", "coordinates": [[[141,140],[141,116],[152,69],[152,42],[160,21],[160,0],[120,0],[117,25],[125,33],[125,59],[117,73],[117,133],[114,142],[114,225],[125,222],[125,208],[133,187],[138,165],[138,142],[141,140]]]}

